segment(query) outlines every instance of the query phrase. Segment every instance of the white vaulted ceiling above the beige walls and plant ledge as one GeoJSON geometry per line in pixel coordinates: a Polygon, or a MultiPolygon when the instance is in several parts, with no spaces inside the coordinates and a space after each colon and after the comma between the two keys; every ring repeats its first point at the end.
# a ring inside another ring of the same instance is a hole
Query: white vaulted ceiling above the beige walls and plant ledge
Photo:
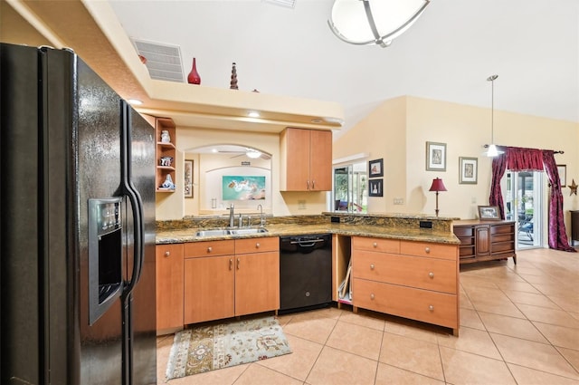
{"type": "MultiPolygon", "coordinates": [[[[51,11],[47,4],[71,3],[10,2],[40,18],[62,12],[62,5],[51,11]]],[[[70,22],[66,14],[51,15],[53,31],[67,35],[75,28],[106,29],[109,21],[94,10],[106,5],[109,18],[116,19],[126,38],[178,46],[185,76],[195,57],[201,87],[228,90],[236,63],[239,88],[248,92],[243,95],[252,98],[251,91],[257,89],[267,95],[327,101],[330,107],[335,102],[344,111],[342,131],[382,101],[400,95],[489,108],[486,79],[495,73],[496,110],[579,122],[576,0],[432,0],[412,28],[388,48],[339,41],[327,26],[332,0],[296,0],[293,8],[260,0],[72,3],[89,8],[94,21],[84,20],[87,13],[70,22]]],[[[77,44],[81,56],[83,50],[90,51],[82,47],[86,40],[77,44]]],[[[118,60],[119,67],[135,72],[134,64],[119,60],[118,46],[106,48],[101,60],[118,60]]],[[[131,49],[129,45],[123,51],[131,49]]],[[[98,60],[96,52],[87,55],[98,60]]],[[[134,83],[135,96],[147,101],[147,89],[135,82],[142,73],[130,72],[119,76],[134,83]]],[[[183,89],[187,90],[191,89],[183,89]]]]}

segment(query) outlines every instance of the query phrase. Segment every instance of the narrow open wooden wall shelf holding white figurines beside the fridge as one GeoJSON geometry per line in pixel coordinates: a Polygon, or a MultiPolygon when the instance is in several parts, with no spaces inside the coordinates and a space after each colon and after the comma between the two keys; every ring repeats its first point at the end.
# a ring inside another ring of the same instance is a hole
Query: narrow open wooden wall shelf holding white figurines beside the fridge
{"type": "Polygon", "coordinates": [[[169,118],[157,118],[155,130],[157,131],[157,192],[175,192],[175,123],[169,118]]]}

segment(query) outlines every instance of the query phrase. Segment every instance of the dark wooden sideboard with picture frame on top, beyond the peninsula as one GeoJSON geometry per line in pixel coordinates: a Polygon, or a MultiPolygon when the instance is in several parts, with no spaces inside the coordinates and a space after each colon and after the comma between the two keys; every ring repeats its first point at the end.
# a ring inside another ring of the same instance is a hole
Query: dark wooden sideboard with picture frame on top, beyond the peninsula
{"type": "Polygon", "coordinates": [[[514,221],[460,220],[452,226],[460,239],[460,265],[508,257],[517,265],[514,221]]]}

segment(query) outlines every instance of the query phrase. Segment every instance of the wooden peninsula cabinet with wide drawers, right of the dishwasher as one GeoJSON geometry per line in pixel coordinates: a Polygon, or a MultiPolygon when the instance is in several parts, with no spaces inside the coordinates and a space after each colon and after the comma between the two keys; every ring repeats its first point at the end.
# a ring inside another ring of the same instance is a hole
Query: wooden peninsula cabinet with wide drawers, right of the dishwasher
{"type": "Polygon", "coordinates": [[[352,304],[459,332],[458,245],[352,239],[352,304]]]}

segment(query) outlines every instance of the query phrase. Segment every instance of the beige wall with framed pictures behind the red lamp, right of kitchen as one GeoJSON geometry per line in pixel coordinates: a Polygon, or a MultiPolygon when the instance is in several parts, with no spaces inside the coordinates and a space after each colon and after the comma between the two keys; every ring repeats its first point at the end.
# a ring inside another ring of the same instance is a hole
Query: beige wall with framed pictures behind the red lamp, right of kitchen
{"type": "MultiPolygon", "coordinates": [[[[555,159],[567,166],[567,184],[579,171],[577,123],[495,110],[494,139],[506,146],[564,150],[555,159]]],[[[384,197],[369,198],[369,212],[432,215],[435,195],[428,189],[432,178],[442,178],[448,191],[439,196],[440,216],[473,218],[477,206],[489,202],[492,160],[482,155],[489,142],[489,109],[404,96],[384,101],[337,140],[334,158],[367,152],[369,159],[384,159],[384,197]],[[426,141],[446,143],[446,171],[426,171],[426,141]],[[459,157],[479,159],[478,184],[459,184],[459,157]],[[394,205],[399,197],[404,204],[394,205]]],[[[579,208],[577,196],[569,193],[564,188],[565,211],[579,208]]]]}

